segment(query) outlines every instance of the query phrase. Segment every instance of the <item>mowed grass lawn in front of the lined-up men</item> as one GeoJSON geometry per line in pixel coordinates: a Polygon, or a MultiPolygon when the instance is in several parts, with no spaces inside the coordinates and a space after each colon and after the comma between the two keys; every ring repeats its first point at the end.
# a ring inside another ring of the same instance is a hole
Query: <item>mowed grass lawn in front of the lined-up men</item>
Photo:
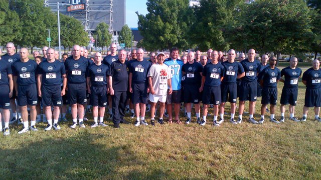
{"type": "MultiPolygon", "coordinates": [[[[278,100],[283,83],[279,83],[278,100]]],[[[300,82],[295,116],[301,118],[305,86],[300,82]]],[[[248,103],[245,110],[248,111],[248,103]]],[[[260,117],[261,98],[255,118],[260,117]]],[[[229,105],[227,111],[229,112],[229,105]]],[[[288,109],[288,106],[286,107],[288,109]]],[[[238,110],[238,109],[237,109],[238,110]]],[[[211,109],[212,111],[212,109],[211,109]]],[[[213,114],[213,112],[211,113],[213,114]]],[[[236,112],[238,114],[238,112],[236,112]]],[[[18,134],[22,125],[11,126],[0,136],[0,179],[320,179],[321,122],[310,108],[306,122],[288,120],[275,124],[225,122],[133,125],[70,129],[71,120],[59,131],[18,134]]],[[[129,114],[127,114],[129,116],[129,114]]],[[[149,112],[147,112],[149,123],[149,112]]],[[[70,116],[68,116],[70,119],[70,116]]],[[[276,117],[280,117],[279,104],[276,117]]],[[[185,121],[183,112],[181,119],[185,121]]],[[[237,115],[236,115],[237,118],[237,115]]]]}

